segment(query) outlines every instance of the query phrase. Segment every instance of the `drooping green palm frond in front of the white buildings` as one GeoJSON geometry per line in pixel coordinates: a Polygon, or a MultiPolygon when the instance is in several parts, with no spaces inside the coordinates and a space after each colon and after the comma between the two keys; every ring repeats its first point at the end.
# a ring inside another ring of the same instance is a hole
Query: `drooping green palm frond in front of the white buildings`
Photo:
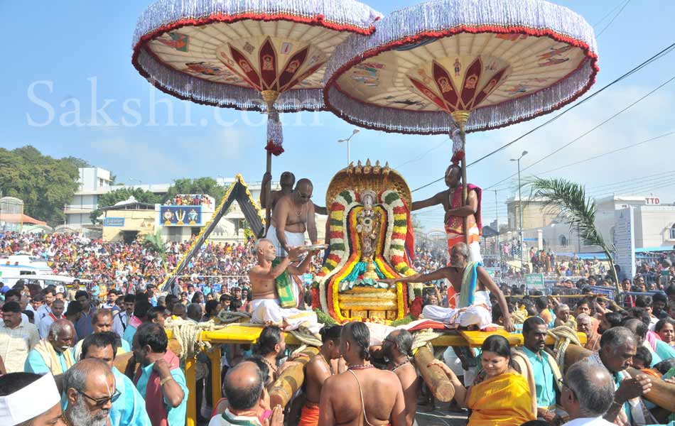
{"type": "Polygon", "coordinates": [[[619,277],[614,267],[612,251],[614,247],[608,246],[603,235],[595,226],[595,200],[586,197],[585,188],[576,182],[565,179],[534,178],[524,184],[531,190],[530,200],[544,202],[544,208],[560,210],[571,229],[578,232],[579,237],[585,244],[600,246],[605,256],[610,261],[610,271],[616,285],[616,294],[619,297],[619,277]]]}

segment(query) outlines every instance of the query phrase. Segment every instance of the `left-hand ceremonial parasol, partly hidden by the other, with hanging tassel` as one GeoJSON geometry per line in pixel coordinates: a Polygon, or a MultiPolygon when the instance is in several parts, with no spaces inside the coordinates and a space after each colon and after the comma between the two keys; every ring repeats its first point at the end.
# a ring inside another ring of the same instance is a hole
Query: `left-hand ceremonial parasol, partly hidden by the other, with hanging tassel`
{"type": "Polygon", "coordinates": [[[266,111],[269,173],[279,112],[323,109],[325,62],[379,16],[355,0],[160,0],[139,18],[132,62],[180,99],[266,111]]]}

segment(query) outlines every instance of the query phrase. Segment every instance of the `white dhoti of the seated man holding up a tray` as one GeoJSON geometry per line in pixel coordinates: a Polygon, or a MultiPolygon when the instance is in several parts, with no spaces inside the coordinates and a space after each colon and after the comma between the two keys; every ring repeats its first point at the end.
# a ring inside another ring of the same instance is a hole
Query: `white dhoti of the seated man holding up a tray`
{"type": "Polygon", "coordinates": [[[303,326],[313,334],[318,334],[322,327],[315,312],[299,310],[294,307],[281,307],[279,300],[276,299],[256,299],[251,304],[253,310],[251,322],[254,324],[272,323],[281,327],[286,322],[286,331],[303,326]]]}

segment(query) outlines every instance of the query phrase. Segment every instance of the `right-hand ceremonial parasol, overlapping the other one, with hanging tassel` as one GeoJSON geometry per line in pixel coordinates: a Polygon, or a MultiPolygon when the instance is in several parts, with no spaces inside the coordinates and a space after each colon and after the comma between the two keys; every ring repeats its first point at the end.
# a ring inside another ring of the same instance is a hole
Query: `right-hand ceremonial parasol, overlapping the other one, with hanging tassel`
{"type": "Polygon", "coordinates": [[[352,35],[328,61],[326,106],[350,123],[398,133],[496,129],[563,107],[598,72],[593,28],[539,0],[434,0],[352,35]],[[456,127],[455,127],[456,125],[456,127]]]}

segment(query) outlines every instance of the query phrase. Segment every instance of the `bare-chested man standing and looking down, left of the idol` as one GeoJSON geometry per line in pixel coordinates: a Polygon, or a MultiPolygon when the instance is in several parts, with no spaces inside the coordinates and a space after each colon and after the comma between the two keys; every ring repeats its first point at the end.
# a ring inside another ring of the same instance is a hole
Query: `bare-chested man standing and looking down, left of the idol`
{"type": "Polygon", "coordinates": [[[312,191],[311,180],[301,179],[293,192],[276,202],[266,238],[274,244],[277,257],[286,257],[289,247],[303,246],[305,231],[312,244],[316,244],[312,191]]]}

